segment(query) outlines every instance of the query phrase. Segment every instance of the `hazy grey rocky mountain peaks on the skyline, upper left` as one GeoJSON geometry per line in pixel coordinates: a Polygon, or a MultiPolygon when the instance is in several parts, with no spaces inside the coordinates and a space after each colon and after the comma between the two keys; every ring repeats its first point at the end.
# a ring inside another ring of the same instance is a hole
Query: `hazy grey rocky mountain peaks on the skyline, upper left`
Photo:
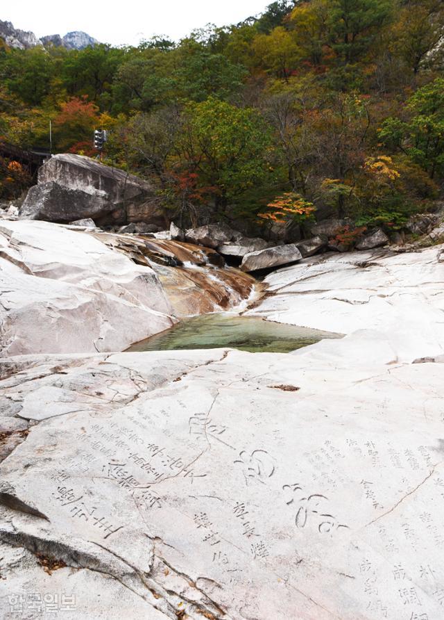
{"type": "Polygon", "coordinates": [[[66,47],[67,49],[85,49],[85,47],[94,46],[99,43],[96,39],[82,31],[72,31],[64,37],[60,35],[47,35],[41,39],[37,39],[33,32],[26,32],[14,28],[11,22],[2,22],[0,19],[0,38],[2,38],[9,47],[17,49],[29,49],[31,47],[39,47],[53,45],[54,47],[66,47]]]}

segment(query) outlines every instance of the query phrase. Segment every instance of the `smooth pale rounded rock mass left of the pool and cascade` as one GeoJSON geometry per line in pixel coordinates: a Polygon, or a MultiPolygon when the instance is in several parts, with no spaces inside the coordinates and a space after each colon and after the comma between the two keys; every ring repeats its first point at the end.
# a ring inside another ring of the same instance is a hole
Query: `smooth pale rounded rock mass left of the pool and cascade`
{"type": "Polygon", "coordinates": [[[153,269],[49,222],[1,222],[0,352],[116,351],[176,323],[153,269]]]}

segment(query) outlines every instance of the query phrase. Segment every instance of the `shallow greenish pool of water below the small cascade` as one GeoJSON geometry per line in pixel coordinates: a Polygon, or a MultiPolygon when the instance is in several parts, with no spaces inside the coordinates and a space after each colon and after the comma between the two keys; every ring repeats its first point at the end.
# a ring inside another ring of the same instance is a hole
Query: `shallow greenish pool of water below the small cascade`
{"type": "Polygon", "coordinates": [[[271,323],[257,317],[216,313],[182,319],[167,332],[151,336],[133,345],[128,351],[229,347],[252,353],[289,353],[323,338],[341,338],[341,334],[271,323]]]}

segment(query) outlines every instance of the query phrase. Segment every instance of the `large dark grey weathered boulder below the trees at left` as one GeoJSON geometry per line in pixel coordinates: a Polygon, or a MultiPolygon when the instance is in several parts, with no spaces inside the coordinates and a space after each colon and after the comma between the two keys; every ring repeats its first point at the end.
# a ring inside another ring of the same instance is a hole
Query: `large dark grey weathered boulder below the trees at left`
{"type": "Polygon", "coordinates": [[[164,223],[151,183],[71,154],[53,156],[40,168],[19,215],[51,222],[93,218],[99,225],[164,223]]]}

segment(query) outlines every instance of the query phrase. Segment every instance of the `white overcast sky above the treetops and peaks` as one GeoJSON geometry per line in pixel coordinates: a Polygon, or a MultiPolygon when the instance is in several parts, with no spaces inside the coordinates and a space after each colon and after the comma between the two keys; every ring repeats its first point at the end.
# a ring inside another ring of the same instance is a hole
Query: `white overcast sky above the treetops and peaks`
{"type": "Polygon", "coordinates": [[[37,37],[83,30],[103,43],[138,44],[153,35],[179,40],[205,24],[236,24],[271,0],[15,0],[0,19],[37,37]]]}

